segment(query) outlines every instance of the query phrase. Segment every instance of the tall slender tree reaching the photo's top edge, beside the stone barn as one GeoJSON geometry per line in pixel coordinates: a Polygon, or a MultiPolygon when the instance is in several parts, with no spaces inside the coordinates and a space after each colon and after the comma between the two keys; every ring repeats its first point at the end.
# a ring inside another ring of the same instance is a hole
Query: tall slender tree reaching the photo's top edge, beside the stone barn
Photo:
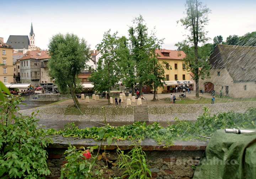
{"type": "Polygon", "coordinates": [[[193,46],[193,55],[187,55],[183,61],[185,62],[186,70],[192,71],[194,74],[193,80],[196,82],[196,97],[199,97],[199,78],[203,79],[205,76],[209,76],[208,70],[210,65],[206,59],[198,60],[198,43],[205,43],[209,40],[206,37],[208,31],[205,30],[205,26],[209,21],[208,14],[210,9],[199,0],[187,0],[185,7],[186,17],[177,21],[177,23],[181,22],[185,29],[189,30],[190,34],[188,35],[188,41],[178,43],[176,46],[180,46],[185,42],[193,46]]]}

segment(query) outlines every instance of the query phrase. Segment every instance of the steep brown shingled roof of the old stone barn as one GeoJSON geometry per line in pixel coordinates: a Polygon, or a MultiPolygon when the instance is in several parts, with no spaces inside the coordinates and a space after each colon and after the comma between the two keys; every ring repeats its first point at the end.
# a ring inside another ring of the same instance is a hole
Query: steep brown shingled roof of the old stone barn
{"type": "Polygon", "coordinates": [[[209,60],[212,69],[226,68],[234,81],[256,80],[256,47],[217,44],[209,60]]]}

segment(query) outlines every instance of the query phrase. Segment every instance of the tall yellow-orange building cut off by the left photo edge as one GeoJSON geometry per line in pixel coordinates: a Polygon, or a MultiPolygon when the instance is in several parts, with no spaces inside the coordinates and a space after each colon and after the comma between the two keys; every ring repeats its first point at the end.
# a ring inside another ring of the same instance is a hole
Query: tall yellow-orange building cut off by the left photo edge
{"type": "MultiPolygon", "coordinates": [[[[2,39],[2,38],[1,38],[2,39]]],[[[13,83],[12,49],[0,41],[0,81],[13,83]]]]}

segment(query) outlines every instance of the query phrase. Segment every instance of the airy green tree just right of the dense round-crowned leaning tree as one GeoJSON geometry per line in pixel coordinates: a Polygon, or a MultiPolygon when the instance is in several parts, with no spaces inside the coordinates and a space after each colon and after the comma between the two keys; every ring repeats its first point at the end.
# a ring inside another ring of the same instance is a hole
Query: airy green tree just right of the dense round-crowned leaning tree
{"type": "MultiPolygon", "coordinates": [[[[119,37],[117,32],[113,35],[110,34],[110,30],[105,32],[101,44],[96,46],[101,50],[101,57],[97,64],[97,70],[91,74],[90,81],[94,85],[98,85],[96,90],[107,89],[110,94],[111,86],[114,86],[120,80],[120,73],[118,67],[118,50],[119,50],[119,37]],[[100,81],[101,80],[101,81],[100,81]]],[[[110,104],[110,98],[108,98],[108,104],[110,104]]]]}

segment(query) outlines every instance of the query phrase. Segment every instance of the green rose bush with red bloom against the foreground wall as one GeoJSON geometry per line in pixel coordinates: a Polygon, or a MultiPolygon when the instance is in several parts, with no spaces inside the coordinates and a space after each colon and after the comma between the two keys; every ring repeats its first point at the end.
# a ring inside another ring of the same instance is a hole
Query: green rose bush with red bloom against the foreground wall
{"type": "MultiPolygon", "coordinates": [[[[97,149],[98,146],[93,146],[89,148],[90,152],[93,152],[94,149],[97,149]]],[[[92,177],[92,167],[91,162],[94,161],[97,157],[91,157],[86,159],[83,155],[83,152],[86,151],[84,147],[80,147],[76,149],[75,146],[71,146],[69,144],[68,150],[65,151],[64,154],[67,154],[66,161],[62,170],[61,170],[61,179],[64,177],[67,179],[84,179],[84,178],[93,178],[92,177]]],[[[101,176],[103,171],[96,170],[95,174],[101,176]]],[[[99,177],[98,177],[99,178],[99,177]]],[[[95,178],[97,179],[97,178],[95,178]]]]}

